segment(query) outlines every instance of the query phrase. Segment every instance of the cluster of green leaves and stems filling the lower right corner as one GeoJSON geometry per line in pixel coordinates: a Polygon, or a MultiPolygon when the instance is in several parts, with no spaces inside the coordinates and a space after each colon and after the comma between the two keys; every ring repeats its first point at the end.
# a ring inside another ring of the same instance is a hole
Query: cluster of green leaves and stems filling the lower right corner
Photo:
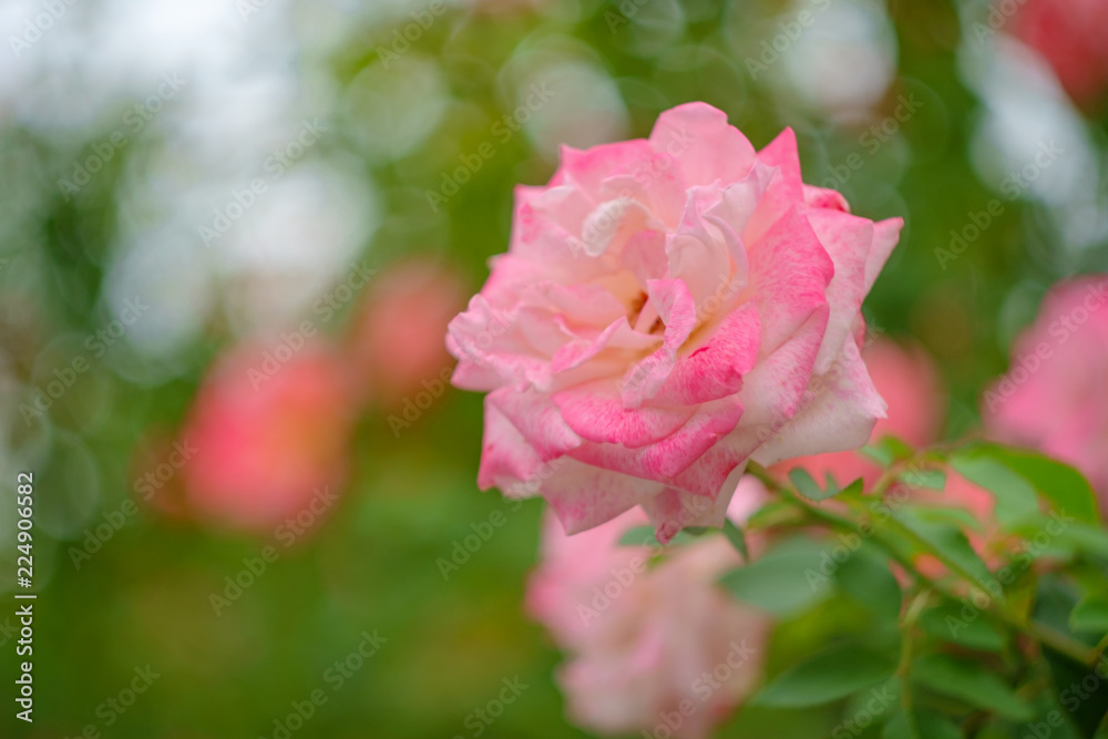
{"type": "Polygon", "coordinates": [[[864,452],[884,470],[869,490],[751,470],[776,492],[739,540],[761,553],[721,579],[777,623],[748,709],[822,707],[834,739],[1108,737],[1108,533],[1089,483],[996,444],[864,452]],[[951,493],[958,478],[993,516],[951,493]]]}

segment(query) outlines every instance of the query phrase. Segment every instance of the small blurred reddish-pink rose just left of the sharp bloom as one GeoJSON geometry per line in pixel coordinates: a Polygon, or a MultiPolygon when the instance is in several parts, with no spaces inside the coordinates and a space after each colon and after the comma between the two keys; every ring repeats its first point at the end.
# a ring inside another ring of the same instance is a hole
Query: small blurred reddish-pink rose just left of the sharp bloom
{"type": "Polygon", "coordinates": [[[425,383],[449,383],[454,362],[442,335],[466,292],[454,269],[431,259],[400,261],[377,276],[347,339],[369,400],[394,407],[425,383]]]}

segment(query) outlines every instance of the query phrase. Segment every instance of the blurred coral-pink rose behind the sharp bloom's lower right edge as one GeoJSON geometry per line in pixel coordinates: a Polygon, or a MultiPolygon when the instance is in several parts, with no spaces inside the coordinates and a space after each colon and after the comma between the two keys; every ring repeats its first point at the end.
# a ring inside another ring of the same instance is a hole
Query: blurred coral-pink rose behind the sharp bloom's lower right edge
{"type": "MultiPolygon", "coordinates": [[[[919,346],[901,346],[891,339],[878,339],[862,350],[870,379],[889,404],[886,418],[873,427],[870,441],[896,437],[913,447],[924,447],[938,439],[946,411],[946,393],[934,360],[919,346]]],[[[830,472],[840,485],[862,478],[866,486],[876,482],[882,469],[859,452],[834,452],[802,456],[778,465],[787,472],[804,468],[823,484],[830,472]]]]}

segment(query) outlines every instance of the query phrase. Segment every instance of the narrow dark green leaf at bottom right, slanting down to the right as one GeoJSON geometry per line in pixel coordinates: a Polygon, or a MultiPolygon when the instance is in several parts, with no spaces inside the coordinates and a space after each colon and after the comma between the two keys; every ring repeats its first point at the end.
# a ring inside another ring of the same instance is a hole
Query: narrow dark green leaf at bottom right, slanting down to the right
{"type": "Polygon", "coordinates": [[[994,673],[982,665],[950,655],[929,655],[912,664],[912,680],[944,696],[985,708],[1014,721],[1026,721],[1034,711],[994,673]]]}

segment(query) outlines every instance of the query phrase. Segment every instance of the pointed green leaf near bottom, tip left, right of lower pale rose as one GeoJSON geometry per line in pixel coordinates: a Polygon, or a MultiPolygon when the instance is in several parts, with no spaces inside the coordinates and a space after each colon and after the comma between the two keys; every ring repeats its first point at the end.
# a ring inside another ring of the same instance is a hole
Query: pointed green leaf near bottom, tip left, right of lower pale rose
{"type": "Polygon", "coordinates": [[[781,708],[819,706],[888,680],[895,669],[892,655],[840,645],[786,670],[753,702],[781,708]]]}

